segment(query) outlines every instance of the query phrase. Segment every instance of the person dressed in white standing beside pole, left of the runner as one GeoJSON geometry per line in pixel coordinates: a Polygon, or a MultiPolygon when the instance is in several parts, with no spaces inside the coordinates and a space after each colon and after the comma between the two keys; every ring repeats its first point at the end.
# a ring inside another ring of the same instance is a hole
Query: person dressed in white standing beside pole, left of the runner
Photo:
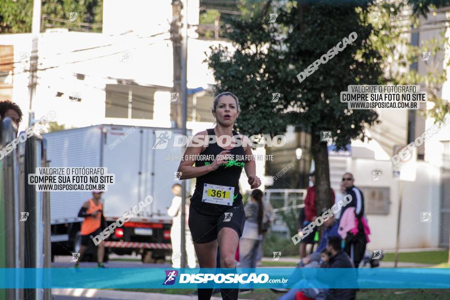
{"type": "MultiPolygon", "coordinates": [[[[172,227],[170,228],[170,240],[172,241],[172,268],[181,268],[181,192],[182,186],[178,183],[173,184],[172,193],[175,195],[172,199],[172,205],[167,210],[171,216],[172,227]]],[[[186,198],[188,200],[188,198],[186,198]]],[[[186,256],[189,268],[196,267],[195,249],[192,242],[191,232],[188,228],[189,203],[185,206],[186,212],[186,256]]]]}

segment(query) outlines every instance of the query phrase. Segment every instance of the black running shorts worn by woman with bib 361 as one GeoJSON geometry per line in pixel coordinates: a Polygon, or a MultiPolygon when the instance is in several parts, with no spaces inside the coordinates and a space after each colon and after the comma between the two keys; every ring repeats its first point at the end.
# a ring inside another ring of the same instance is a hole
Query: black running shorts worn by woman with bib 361
{"type": "Polygon", "coordinates": [[[245,224],[244,206],[230,206],[219,216],[210,216],[198,213],[189,205],[189,229],[192,241],[197,244],[206,244],[217,239],[220,229],[232,228],[239,238],[242,236],[245,224]]]}

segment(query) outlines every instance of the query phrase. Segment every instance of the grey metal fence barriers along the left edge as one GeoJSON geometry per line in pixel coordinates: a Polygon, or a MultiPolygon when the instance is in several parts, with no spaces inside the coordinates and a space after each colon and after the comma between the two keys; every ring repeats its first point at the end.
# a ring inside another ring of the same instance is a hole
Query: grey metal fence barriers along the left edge
{"type": "MultiPolygon", "coordinates": [[[[46,142],[25,137],[9,118],[0,121],[0,268],[50,268],[49,193],[27,184],[28,174],[48,166],[46,142]]],[[[50,300],[51,289],[0,289],[0,299],[50,300]]]]}

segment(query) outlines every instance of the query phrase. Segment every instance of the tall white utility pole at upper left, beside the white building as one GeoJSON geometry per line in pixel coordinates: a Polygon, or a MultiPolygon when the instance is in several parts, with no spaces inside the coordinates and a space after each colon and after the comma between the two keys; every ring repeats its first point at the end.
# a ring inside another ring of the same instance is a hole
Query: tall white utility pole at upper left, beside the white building
{"type": "Polygon", "coordinates": [[[30,127],[34,119],[34,114],[32,112],[32,102],[34,96],[36,96],[36,85],[37,85],[37,59],[38,59],[38,42],[40,34],[40,8],[41,0],[34,0],[33,2],[33,22],[32,22],[32,36],[33,44],[31,46],[31,56],[30,56],[30,78],[28,83],[28,91],[30,95],[30,105],[29,105],[29,121],[28,127],[30,127]]]}

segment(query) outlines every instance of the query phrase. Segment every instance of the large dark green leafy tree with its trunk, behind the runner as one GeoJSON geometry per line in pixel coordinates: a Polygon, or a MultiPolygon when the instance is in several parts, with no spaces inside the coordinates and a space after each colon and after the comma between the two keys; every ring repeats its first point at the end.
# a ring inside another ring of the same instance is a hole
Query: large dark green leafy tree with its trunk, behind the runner
{"type": "Polygon", "coordinates": [[[276,10],[265,5],[253,11],[253,17],[233,21],[229,38],[237,51],[230,63],[220,62],[228,51],[221,46],[212,48],[208,58],[217,91],[232,91],[240,98],[237,129],[275,135],[295,125],[311,133],[318,211],[331,206],[328,151],[320,141],[321,131],[332,131],[333,142],[342,148],[352,139],[364,139],[365,126],[377,119],[372,110],[347,109],[340,91],[351,84],[384,82],[375,62],[381,56],[369,40],[369,2],[359,12],[360,2],[335,3],[287,1],[283,6],[277,3],[276,10]],[[269,13],[278,14],[274,23],[268,22],[269,13]],[[299,82],[297,74],[352,32],[357,34],[353,43],[299,82]],[[280,94],[278,102],[272,102],[273,93],[280,94]]]}

